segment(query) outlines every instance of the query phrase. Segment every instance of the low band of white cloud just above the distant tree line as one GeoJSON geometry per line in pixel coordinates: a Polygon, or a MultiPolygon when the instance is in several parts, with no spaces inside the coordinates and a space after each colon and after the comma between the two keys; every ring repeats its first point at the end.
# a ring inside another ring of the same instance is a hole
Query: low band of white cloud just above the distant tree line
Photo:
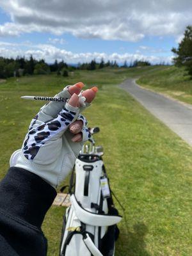
{"type": "Polygon", "coordinates": [[[78,62],[86,62],[95,59],[96,61],[100,61],[103,58],[105,61],[117,61],[118,63],[124,63],[125,60],[127,62],[134,60],[148,60],[151,63],[171,63],[172,56],[170,57],[159,57],[159,56],[147,56],[144,54],[136,53],[131,54],[126,52],[124,54],[118,54],[113,52],[112,54],[106,54],[104,52],[71,52],[66,51],[65,49],[60,49],[54,45],[50,44],[38,44],[33,45],[30,42],[24,42],[22,45],[25,45],[29,49],[21,50],[20,44],[10,44],[6,42],[0,42],[0,56],[4,56],[7,58],[16,58],[19,56],[29,56],[32,54],[34,58],[37,60],[44,59],[48,63],[52,63],[54,60],[64,60],[67,63],[78,63],[78,62]]]}

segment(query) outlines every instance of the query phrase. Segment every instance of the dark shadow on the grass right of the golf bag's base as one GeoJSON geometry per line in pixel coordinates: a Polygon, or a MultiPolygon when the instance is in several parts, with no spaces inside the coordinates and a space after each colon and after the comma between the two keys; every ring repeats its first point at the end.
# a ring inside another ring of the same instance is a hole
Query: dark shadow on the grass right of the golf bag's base
{"type": "Polygon", "coordinates": [[[148,228],[144,223],[137,223],[133,226],[133,232],[120,229],[120,237],[116,243],[116,255],[150,256],[145,249],[145,236],[148,228]]]}

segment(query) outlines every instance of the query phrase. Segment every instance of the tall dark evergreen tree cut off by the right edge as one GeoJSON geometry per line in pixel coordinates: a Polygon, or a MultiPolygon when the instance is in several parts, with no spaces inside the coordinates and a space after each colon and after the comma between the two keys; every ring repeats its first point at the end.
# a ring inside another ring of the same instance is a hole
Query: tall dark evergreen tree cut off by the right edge
{"type": "Polygon", "coordinates": [[[192,26],[188,26],[184,32],[184,38],[179,43],[178,49],[172,48],[175,53],[173,59],[177,67],[185,67],[192,78],[192,26]]]}

